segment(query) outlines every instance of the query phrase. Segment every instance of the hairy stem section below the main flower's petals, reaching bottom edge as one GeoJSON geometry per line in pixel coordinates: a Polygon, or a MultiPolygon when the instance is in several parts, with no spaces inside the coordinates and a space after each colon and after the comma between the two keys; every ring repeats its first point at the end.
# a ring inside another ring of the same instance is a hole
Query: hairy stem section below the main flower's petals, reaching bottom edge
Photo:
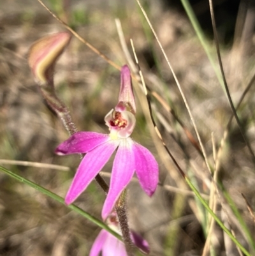
{"type": "Polygon", "coordinates": [[[133,256],[134,246],[130,237],[130,230],[128,227],[128,216],[126,213],[126,189],[121,193],[119,201],[115,205],[115,210],[118,216],[123,242],[126,246],[126,252],[128,253],[128,256],[133,256]]]}

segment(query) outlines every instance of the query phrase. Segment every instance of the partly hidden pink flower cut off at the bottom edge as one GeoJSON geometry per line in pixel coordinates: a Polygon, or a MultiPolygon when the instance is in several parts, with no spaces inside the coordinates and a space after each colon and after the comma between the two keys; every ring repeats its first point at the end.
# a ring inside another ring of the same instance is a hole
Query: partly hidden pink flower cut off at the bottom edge
{"type": "MultiPolygon", "coordinates": [[[[120,234],[119,229],[119,223],[117,222],[117,218],[115,213],[110,215],[106,223],[108,226],[115,230],[115,232],[120,234]]],[[[137,234],[134,231],[131,231],[131,239],[133,243],[143,252],[143,253],[149,253],[149,245],[145,239],[143,239],[142,236],[137,234]]],[[[112,255],[118,255],[118,256],[127,256],[126,249],[124,246],[124,243],[117,239],[115,236],[107,232],[106,230],[101,230],[98,234],[98,237],[96,237],[96,240],[94,241],[94,244],[92,245],[91,252],[89,253],[89,256],[98,256],[99,253],[102,252],[103,256],[112,256],[112,255]]]]}

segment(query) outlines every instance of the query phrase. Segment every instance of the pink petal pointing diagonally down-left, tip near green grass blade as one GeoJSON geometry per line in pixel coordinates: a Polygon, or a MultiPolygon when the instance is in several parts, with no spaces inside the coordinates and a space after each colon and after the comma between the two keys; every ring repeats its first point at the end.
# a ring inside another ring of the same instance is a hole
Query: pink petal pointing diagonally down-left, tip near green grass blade
{"type": "Polygon", "coordinates": [[[99,145],[84,156],[66,195],[66,204],[71,204],[84,192],[92,179],[108,162],[117,146],[119,146],[118,140],[109,141],[99,145]]]}

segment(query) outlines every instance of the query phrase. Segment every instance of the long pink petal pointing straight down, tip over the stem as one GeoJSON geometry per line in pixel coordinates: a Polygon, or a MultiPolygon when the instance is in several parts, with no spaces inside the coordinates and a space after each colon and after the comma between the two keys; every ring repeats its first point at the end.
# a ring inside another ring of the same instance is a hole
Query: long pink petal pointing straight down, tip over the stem
{"type": "Polygon", "coordinates": [[[132,144],[131,139],[122,139],[120,142],[113,162],[109,192],[102,210],[103,220],[111,213],[120,193],[126,188],[135,172],[132,144]]]}

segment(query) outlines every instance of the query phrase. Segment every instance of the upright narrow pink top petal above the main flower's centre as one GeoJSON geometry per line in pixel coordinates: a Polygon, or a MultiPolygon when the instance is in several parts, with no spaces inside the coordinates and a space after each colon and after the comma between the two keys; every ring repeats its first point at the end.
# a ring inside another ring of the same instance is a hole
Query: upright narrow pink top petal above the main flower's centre
{"type": "Polygon", "coordinates": [[[120,76],[121,76],[121,82],[120,82],[119,103],[122,102],[124,103],[124,105],[126,105],[126,107],[128,106],[131,107],[131,112],[135,114],[136,112],[135,96],[133,93],[131,73],[128,65],[122,66],[120,76]]]}

